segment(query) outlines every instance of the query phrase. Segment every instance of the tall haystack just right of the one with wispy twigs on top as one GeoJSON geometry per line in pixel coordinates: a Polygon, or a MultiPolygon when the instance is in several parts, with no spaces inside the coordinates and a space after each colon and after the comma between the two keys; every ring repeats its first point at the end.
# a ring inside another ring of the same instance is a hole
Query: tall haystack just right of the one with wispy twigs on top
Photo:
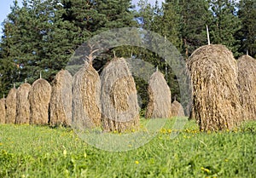
{"type": "Polygon", "coordinates": [[[134,78],[124,58],[114,58],[103,69],[102,125],[105,131],[138,129],[139,106],[134,78]]]}

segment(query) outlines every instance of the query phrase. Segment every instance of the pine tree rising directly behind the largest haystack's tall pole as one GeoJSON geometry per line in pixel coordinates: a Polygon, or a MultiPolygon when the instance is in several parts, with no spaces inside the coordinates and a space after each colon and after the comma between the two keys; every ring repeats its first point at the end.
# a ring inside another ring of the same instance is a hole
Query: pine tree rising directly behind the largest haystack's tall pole
{"type": "Polygon", "coordinates": [[[188,58],[193,51],[207,44],[206,26],[212,20],[209,3],[206,0],[172,0],[179,14],[179,37],[182,42],[181,53],[188,58]]]}

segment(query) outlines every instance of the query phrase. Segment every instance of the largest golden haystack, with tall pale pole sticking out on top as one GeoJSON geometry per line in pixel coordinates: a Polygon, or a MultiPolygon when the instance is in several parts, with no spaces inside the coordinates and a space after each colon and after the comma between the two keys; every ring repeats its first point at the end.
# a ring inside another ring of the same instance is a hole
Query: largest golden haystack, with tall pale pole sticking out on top
{"type": "Polygon", "coordinates": [[[223,45],[196,49],[188,63],[192,95],[192,115],[201,130],[232,129],[243,117],[237,89],[237,65],[223,45]]]}

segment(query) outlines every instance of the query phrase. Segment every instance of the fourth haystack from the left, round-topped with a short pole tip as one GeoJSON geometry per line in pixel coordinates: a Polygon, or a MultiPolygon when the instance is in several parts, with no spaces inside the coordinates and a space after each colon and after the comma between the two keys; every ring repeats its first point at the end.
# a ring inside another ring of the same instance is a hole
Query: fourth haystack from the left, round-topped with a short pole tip
{"type": "Polygon", "coordinates": [[[28,95],[31,124],[48,124],[50,95],[51,86],[46,80],[40,78],[32,83],[32,89],[28,95]]]}

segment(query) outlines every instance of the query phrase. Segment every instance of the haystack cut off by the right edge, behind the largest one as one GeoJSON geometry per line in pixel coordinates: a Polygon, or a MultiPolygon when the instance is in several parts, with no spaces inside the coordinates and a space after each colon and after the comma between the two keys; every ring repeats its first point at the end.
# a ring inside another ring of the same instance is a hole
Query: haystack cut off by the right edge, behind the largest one
{"type": "Polygon", "coordinates": [[[238,81],[241,106],[247,119],[256,120],[256,60],[243,55],[238,60],[238,81]]]}

